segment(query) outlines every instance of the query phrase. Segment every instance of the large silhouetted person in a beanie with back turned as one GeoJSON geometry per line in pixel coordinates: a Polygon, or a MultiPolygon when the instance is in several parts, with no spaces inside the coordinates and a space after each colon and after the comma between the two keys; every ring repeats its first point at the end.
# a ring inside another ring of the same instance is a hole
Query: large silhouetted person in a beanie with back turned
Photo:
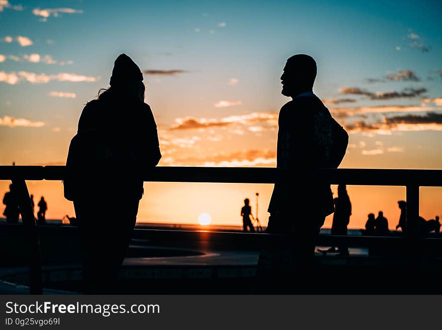
{"type": "Polygon", "coordinates": [[[85,105],[66,161],[64,193],[74,202],[80,227],[85,293],[115,290],[144,192],[143,177],[161,158],[138,65],[121,54],[109,84],[85,105]]]}

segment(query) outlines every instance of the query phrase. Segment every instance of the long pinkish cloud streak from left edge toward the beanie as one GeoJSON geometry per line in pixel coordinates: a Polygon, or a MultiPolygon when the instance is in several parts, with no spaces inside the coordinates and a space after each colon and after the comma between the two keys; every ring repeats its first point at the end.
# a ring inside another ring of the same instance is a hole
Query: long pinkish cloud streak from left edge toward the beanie
{"type": "Polygon", "coordinates": [[[71,82],[93,82],[97,81],[98,78],[89,77],[84,75],[79,75],[75,73],[61,72],[58,74],[46,74],[46,73],[34,73],[27,71],[15,72],[5,72],[0,71],[0,82],[6,82],[14,85],[22,80],[26,80],[31,83],[48,83],[51,80],[57,81],[71,81],[71,82]]]}

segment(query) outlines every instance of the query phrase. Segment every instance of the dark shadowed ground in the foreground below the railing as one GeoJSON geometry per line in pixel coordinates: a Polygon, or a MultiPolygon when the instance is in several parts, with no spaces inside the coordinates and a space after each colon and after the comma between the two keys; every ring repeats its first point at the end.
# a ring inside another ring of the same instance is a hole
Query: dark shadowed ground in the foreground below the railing
{"type": "MultiPolygon", "coordinates": [[[[0,293],[29,292],[22,234],[0,228],[0,293]]],[[[45,293],[81,292],[78,231],[41,228],[40,244],[45,293]]],[[[108,293],[442,293],[438,283],[441,258],[411,260],[385,252],[369,254],[368,249],[350,248],[348,257],[317,252],[310,271],[299,269],[290,278],[263,279],[256,275],[257,246],[137,238],[132,241],[119,284],[108,293]]]]}

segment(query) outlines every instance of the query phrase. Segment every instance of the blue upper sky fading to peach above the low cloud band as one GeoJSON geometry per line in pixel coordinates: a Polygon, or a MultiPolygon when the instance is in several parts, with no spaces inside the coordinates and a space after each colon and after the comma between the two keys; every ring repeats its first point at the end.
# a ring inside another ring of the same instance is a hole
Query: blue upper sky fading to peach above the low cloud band
{"type": "MultiPolygon", "coordinates": [[[[75,131],[83,104],[99,88],[107,87],[113,61],[122,52],[142,70],[185,71],[145,74],[147,102],[164,128],[177,118],[276,112],[287,100],[280,94],[279,77],[285,60],[295,53],[316,59],[314,90],[322,99],[350,97],[352,103],[343,103],[348,106],[418,106],[421,98],[442,94],[440,7],[439,2],[423,6],[411,1],[400,6],[323,1],[9,2],[0,12],[0,55],[6,58],[0,71],[44,77],[69,73],[94,81],[55,77],[47,83],[32,83],[25,76],[15,84],[0,81],[0,117],[45,123],[40,130],[0,127],[0,135],[9,133],[16,141],[39,136],[47,144],[48,140],[54,143],[53,133],[61,133],[49,159],[46,155],[22,161],[62,161],[63,143],[75,131]],[[21,46],[18,36],[32,44],[21,46]],[[7,42],[6,37],[13,41],[7,42]],[[32,54],[40,56],[38,63],[29,61],[32,54]],[[45,55],[53,64],[45,63],[45,55]],[[400,70],[409,70],[418,79],[385,78],[400,70]],[[368,78],[381,81],[369,83],[368,78]],[[425,92],[418,97],[374,100],[367,95],[344,95],[345,86],[372,93],[405,88],[425,92]],[[73,93],[75,98],[49,96],[51,92],[73,93]],[[236,105],[215,107],[219,100],[236,105]]],[[[334,106],[338,105],[329,104],[334,106]]],[[[242,138],[248,144],[256,137],[242,138]]],[[[17,158],[12,150],[8,154],[3,162],[17,158]]]]}

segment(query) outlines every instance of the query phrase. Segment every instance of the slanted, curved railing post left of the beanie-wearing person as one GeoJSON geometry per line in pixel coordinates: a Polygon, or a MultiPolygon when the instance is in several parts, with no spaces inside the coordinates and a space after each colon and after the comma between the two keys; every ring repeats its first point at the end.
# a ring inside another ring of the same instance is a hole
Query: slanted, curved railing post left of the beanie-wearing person
{"type": "Polygon", "coordinates": [[[17,198],[23,226],[25,227],[25,242],[29,257],[29,289],[30,294],[42,294],[42,269],[40,256],[40,240],[35,223],[34,209],[31,204],[28,187],[25,179],[13,177],[15,196],[17,198]]]}

